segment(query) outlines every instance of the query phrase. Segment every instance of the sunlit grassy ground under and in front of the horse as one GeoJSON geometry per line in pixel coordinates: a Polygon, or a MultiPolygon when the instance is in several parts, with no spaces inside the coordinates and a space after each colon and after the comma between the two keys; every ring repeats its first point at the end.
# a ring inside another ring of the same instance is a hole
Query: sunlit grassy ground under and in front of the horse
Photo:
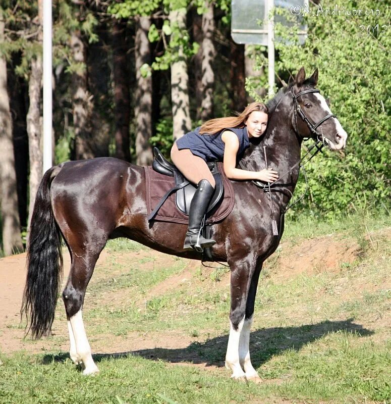
{"type": "MultiPolygon", "coordinates": [[[[269,260],[258,286],[250,337],[252,362],[263,384],[230,380],[222,367],[230,309],[229,287],[219,282],[226,279],[225,270],[196,271],[189,282],[159,292],[156,286],[181,273],[188,261],[173,259],[161,266],[142,247],[146,254],[124,265],[124,249],[132,254],[140,245],[114,240],[109,246],[113,261],[99,269],[107,276],[92,278],[84,307],[93,350],[99,336],[127,341],[135,331],[163,340],[174,333],[179,347],[96,355],[96,377],[83,377],[67,352],[0,355],[0,402],[391,403],[391,248],[381,231],[373,233],[390,221],[360,220],[365,223],[360,229],[349,225],[351,220],[328,231],[320,224],[309,229],[309,222],[301,228],[306,237],[338,231],[334,237],[342,242],[372,234],[376,248],[366,244],[361,257],[341,263],[340,271],[277,282],[273,271],[278,260],[269,260]],[[208,370],[178,365],[187,361],[206,363],[208,370]]],[[[288,246],[301,234],[295,225],[287,229],[292,227],[284,236],[288,246]]],[[[289,255],[289,248],[276,254],[289,255]]],[[[63,310],[56,319],[65,323],[63,310]]]]}

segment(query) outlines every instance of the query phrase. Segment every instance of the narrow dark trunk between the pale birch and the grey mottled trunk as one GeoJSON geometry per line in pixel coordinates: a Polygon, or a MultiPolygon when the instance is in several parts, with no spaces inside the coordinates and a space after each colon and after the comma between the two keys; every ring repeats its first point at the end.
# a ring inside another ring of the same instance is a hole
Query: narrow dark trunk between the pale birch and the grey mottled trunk
{"type": "Polygon", "coordinates": [[[195,79],[195,98],[197,106],[196,120],[201,119],[203,87],[202,87],[202,16],[197,13],[197,8],[193,9],[193,39],[200,47],[193,56],[194,79],[195,79]]]}

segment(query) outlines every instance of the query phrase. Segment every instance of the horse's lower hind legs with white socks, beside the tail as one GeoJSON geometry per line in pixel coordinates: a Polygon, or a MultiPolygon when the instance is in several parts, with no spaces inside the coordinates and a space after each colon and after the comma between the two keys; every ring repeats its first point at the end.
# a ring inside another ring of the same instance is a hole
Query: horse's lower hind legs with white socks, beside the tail
{"type": "MultiPolygon", "coordinates": [[[[99,251],[100,252],[100,251],[99,251]]],[[[84,374],[99,372],[92,355],[82,318],[84,296],[89,280],[91,279],[99,253],[84,253],[78,256],[71,252],[72,264],[67,286],[63,292],[65,310],[67,312],[68,330],[70,338],[70,356],[76,363],[84,368],[84,374]]]]}

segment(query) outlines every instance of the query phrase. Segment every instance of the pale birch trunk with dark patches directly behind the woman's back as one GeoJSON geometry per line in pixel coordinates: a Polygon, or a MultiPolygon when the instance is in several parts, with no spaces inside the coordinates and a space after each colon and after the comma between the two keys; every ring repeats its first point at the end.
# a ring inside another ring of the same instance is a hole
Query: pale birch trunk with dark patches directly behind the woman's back
{"type": "MultiPolygon", "coordinates": [[[[171,10],[169,15],[171,26],[178,25],[180,30],[186,28],[186,9],[171,10]]],[[[172,34],[172,36],[175,34],[172,34]]],[[[174,139],[178,139],[191,129],[189,107],[189,76],[187,74],[186,56],[183,47],[175,49],[178,61],[171,65],[171,99],[173,108],[174,139]]]]}

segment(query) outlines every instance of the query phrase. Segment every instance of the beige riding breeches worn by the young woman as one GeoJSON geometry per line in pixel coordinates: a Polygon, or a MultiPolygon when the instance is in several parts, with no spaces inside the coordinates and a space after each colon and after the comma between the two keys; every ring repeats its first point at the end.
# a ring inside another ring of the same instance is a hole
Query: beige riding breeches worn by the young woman
{"type": "Polygon", "coordinates": [[[179,150],[177,143],[174,143],[171,149],[171,160],[190,182],[198,184],[202,179],[207,179],[214,188],[215,181],[209,167],[201,157],[194,156],[190,149],[179,150]]]}

